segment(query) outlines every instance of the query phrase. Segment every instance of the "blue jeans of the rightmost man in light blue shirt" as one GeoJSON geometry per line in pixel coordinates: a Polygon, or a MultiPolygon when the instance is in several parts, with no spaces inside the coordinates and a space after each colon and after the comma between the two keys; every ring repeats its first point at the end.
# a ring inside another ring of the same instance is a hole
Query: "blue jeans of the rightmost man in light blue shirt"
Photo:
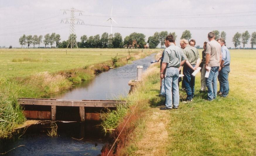
{"type": "Polygon", "coordinates": [[[226,97],[229,92],[228,73],[230,72],[229,65],[221,68],[219,72],[220,92],[221,96],[226,97]]]}

